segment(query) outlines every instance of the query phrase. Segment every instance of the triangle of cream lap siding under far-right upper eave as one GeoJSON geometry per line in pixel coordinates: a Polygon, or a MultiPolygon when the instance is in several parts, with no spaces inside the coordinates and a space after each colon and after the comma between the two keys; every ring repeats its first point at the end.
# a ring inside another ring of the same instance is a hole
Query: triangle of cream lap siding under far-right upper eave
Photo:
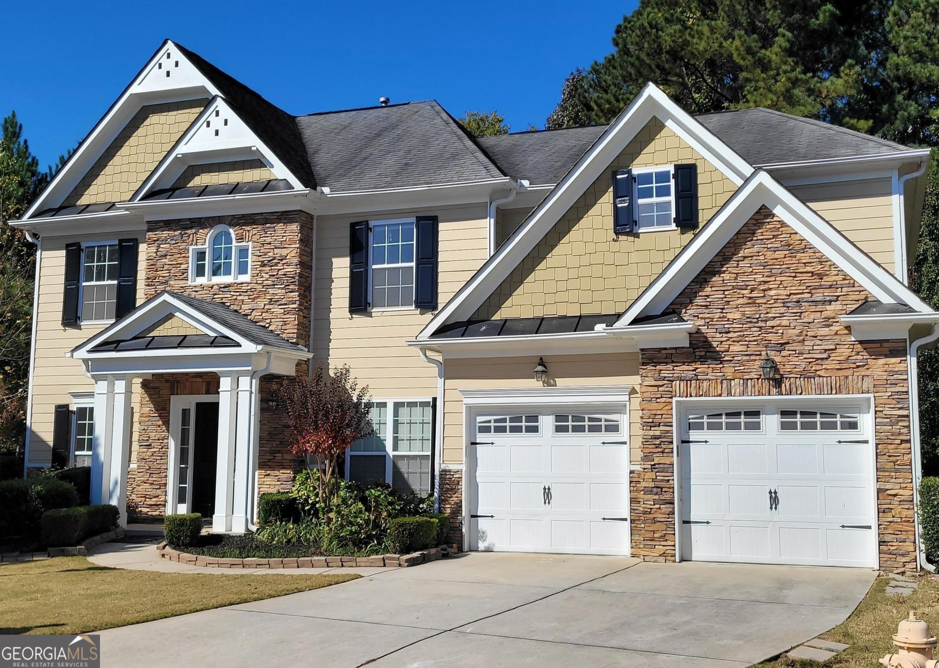
{"type": "Polygon", "coordinates": [[[893,273],[893,199],[888,176],[791,186],[789,190],[893,273]]]}

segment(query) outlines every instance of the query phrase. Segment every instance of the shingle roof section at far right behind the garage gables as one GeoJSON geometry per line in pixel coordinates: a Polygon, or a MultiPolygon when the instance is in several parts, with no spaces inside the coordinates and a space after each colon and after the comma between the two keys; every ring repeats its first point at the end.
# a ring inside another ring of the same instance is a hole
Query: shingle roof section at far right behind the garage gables
{"type": "Polygon", "coordinates": [[[909,150],[869,134],[762,107],[696,118],[754,167],[909,150]]]}

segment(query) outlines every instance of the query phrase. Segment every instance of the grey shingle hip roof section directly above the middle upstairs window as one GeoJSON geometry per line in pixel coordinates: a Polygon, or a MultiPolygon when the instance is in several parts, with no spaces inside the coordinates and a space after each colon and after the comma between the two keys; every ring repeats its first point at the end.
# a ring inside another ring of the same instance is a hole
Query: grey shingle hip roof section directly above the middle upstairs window
{"type": "Polygon", "coordinates": [[[436,101],[311,114],[297,125],[319,184],[335,191],[503,176],[436,101]]]}

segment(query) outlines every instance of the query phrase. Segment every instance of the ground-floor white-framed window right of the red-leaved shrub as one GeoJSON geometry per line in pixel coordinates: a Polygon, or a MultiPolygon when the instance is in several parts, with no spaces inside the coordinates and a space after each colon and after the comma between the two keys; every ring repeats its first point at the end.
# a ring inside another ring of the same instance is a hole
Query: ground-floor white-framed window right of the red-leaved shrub
{"type": "Polygon", "coordinates": [[[346,478],[362,485],[387,482],[403,493],[430,493],[433,412],[433,402],[426,400],[373,402],[375,433],[349,448],[346,478]]]}

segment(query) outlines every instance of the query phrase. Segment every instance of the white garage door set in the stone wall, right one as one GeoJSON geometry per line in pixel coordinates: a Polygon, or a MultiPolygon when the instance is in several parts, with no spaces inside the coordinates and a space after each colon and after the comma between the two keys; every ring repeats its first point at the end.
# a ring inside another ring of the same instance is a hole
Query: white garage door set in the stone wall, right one
{"type": "Polygon", "coordinates": [[[683,559],[876,566],[869,408],[861,402],[688,402],[683,559]]]}

